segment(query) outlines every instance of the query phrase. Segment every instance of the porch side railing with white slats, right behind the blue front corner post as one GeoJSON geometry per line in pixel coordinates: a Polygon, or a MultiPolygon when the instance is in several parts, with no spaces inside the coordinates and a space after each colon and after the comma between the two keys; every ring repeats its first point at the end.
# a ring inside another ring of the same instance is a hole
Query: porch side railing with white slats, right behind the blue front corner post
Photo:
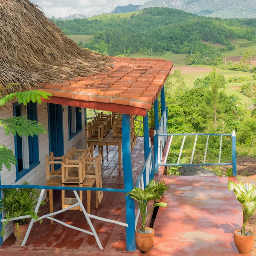
{"type": "MultiPolygon", "coordinates": [[[[153,146],[151,146],[151,148],[150,148],[148,157],[145,161],[142,171],[140,172],[140,175],[135,184],[135,187],[138,187],[140,189],[145,189],[145,187],[148,185],[149,181],[152,178],[154,178],[152,149],[153,149],[153,146]]],[[[138,224],[139,216],[140,216],[140,209],[138,208],[137,215],[135,218],[135,229],[138,224]]]]}

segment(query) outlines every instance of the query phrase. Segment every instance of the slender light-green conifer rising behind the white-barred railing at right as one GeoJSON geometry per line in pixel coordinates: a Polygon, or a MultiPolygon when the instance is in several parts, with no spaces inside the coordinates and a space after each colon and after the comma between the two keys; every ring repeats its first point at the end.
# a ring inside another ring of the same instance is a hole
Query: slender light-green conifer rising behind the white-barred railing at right
{"type": "Polygon", "coordinates": [[[223,101],[225,94],[221,89],[221,76],[217,75],[216,69],[210,73],[211,82],[210,88],[206,91],[206,101],[205,104],[208,106],[208,117],[214,119],[215,132],[217,131],[217,121],[221,117],[221,111],[223,108],[223,101]]]}

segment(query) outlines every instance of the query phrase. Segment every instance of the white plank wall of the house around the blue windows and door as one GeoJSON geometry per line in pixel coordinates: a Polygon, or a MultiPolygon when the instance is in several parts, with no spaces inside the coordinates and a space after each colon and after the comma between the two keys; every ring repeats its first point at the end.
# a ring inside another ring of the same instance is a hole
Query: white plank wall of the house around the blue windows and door
{"type": "MultiPolygon", "coordinates": [[[[69,133],[68,133],[68,107],[63,106],[64,112],[63,112],[63,129],[64,129],[64,154],[72,148],[72,146],[76,146],[76,148],[84,148],[85,147],[85,140],[84,140],[84,109],[81,109],[82,113],[82,127],[83,131],[81,131],[79,134],[77,134],[75,137],[73,137],[70,141],[69,139],[69,133]]],[[[0,118],[10,118],[13,116],[13,111],[0,111],[0,118]]],[[[45,125],[45,129],[48,131],[48,110],[47,110],[47,103],[42,103],[41,105],[38,104],[38,122],[42,125],[45,125]]],[[[45,166],[45,157],[49,154],[49,137],[47,134],[40,134],[39,135],[39,160],[40,165],[36,166],[34,169],[32,169],[28,174],[23,176],[20,180],[18,180],[15,183],[16,180],[16,167],[12,166],[11,171],[8,171],[5,167],[0,172],[1,175],[1,184],[2,185],[9,185],[9,184],[21,184],[24,181],[27,181],[29,184],[34,185],[45,185],[46,182],[46,166],[45,166]]],[[[0,145],[5,145],[9,149],[12,149],[13,153],[15,154],[15,143],[14,143],[14,136],[9,135],[6,136],[6,134],[3,131],[3,128],[0,127],[0,145]]],[[[2,193],[2,196],[3,193],[2,193]]],[[[4,217],[3,212],[3,217],[4,217]]],[[[6,227],[6,234],[3,237],[5,240],[7,237],[9,237],[12,234],[12,224],[9,223],[6,227]]]]}

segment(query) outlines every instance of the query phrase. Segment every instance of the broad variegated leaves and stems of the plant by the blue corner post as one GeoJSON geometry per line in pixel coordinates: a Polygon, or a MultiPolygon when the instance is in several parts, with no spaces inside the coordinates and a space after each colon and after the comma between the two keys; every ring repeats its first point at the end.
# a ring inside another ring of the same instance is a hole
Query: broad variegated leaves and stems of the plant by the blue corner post
{"type": "Polygon", "coordinates": [[[161,197],[160,193],[166,191],[166,189],[168,189],[168,187],[164,182],[155,183],[154,179],[152,179],[149,181],[148,186],[146,186],[144,190],[135,187],[133,190],[131,190],[126,194],[130,198],[133,198],[134,200],[136,200],[138,203],[140,214],[141,214],[141,220],[142,220],[141,230],[143,233],[145,233],[145,222],[148,214],[157,206],[167,207],[166,202],[160,202],[160,203],[153,204],[153,207],[147,211],[147,205],[149,201],[160,199],[161,197]]]}

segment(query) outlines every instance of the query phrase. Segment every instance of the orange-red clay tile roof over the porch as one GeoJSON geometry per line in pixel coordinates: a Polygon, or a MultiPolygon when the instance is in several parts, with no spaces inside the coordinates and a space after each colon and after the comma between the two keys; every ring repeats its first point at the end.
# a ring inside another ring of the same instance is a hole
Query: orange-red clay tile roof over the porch
{"type": "Polygon", "coordinates": [[[145,115],[172,70],[172,61],[113,58],[113,67],[62,84],[39,85],[52,93],[49,102],[145,115]]]}

